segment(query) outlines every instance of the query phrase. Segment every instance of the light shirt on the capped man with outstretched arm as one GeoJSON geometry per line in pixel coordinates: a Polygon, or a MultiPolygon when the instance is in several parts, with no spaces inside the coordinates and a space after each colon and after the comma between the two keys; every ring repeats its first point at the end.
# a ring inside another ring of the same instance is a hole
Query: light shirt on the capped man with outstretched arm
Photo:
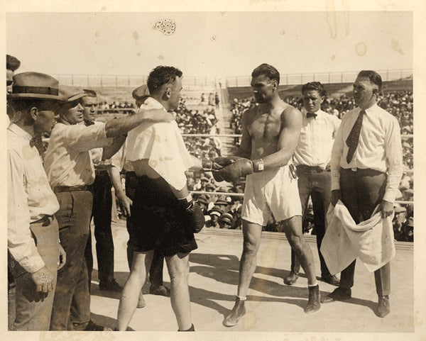
{"type": "Polygon", "coordinates": [[[105,125],[66,125],[58,123],[52,130],[45,156],[50,186],[84,186],[93,184],[94,166],[89,150],[110,145],[105,125]]]}

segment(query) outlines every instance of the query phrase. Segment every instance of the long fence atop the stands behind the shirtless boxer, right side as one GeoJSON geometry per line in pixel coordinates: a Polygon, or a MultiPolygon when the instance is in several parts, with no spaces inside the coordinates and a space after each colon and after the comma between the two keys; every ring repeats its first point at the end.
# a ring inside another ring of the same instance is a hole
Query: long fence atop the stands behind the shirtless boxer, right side
{"type": "MultiPolygon", "coordinates": [[[[358,71],[354,72],[323,72],[309,74],[281,74],[280,85],[300,85],[307,82],[351,83],[356,79],[358,71]]],[[[400,79],[413,79],[412,69],[396,69],[378,71],[383,82],[400,79]]],[[[251,77],[226,77],[226,87],[250,86],[251,77]]]]}

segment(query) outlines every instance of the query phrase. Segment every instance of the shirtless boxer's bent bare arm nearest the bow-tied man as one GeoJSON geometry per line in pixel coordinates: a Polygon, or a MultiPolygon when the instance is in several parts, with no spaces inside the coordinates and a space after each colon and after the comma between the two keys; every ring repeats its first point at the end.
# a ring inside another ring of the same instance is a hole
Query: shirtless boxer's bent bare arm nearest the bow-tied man
{"type": "Polygon", "coordinates": [[[263,157],[265,169],[283,167],[293,157],[302,129],[302,114],[296,108],[286,108],[281,114],[283,129],[278,138],[278,152],[263,157]]]}

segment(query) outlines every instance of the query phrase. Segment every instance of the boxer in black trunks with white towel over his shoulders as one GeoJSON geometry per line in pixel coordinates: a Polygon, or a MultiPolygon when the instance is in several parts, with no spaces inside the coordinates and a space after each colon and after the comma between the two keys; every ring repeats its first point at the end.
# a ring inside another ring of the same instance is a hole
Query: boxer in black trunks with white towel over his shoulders
{"type": "MultiPolygon", "coordinates": [[[[148,76],[151,94],[141,108],[163,111],[178,108],[182,72],[159,66],[148,76]]],[[[136,174],[136,191],[131,206],[133,264],[119,304],[117,330],[126,330],[136,310],[155,247],[165,255],[170,273],[171,303],[178,330],[193,331],[187,278],[189,253],[197,248],[194,232],[204,226],[200,206],[187,190],[185,171],[201,168],[201,162],[185,148],[175,121],[142,124],[127,138],[126,160],[136,174]]]]}

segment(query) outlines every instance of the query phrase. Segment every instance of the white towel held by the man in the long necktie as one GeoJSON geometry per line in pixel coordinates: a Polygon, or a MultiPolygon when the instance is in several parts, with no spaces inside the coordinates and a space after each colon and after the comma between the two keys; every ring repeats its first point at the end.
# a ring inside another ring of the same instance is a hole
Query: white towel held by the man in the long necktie
{"type": "Polygon", "coordinates": [[[395,257],[393,216],[381,217],[380,206],[371,218],[356,225],[342,201],[329,206],[321,253],[331,274],[337,274],[359,257],[369,272],[395,257]]]}

